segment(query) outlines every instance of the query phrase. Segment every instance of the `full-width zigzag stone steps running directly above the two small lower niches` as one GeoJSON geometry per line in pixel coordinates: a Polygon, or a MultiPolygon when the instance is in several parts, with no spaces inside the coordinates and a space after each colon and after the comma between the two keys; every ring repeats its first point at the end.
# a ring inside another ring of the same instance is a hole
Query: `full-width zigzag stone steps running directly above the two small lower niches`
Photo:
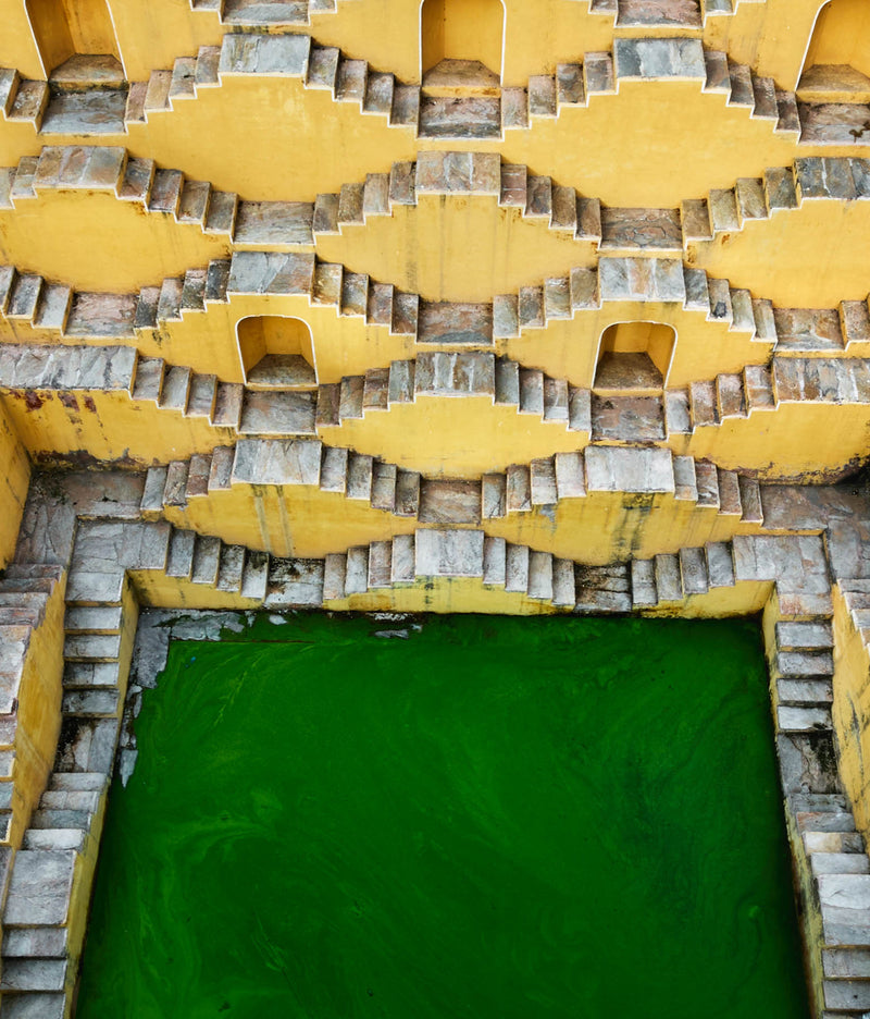
{"type": "Polygon", "coordinates": [[[303,295],[312,306],[333,307],[338,316],[362,318],[366,326],[386,327],[390,335],[413,336],[418,343],[489,346],[614,300],[678,304],[775,353],[847,353],[853,343],[870,342],[868,299],[844,300],[837,308],[774,308],[748,290],[670,258],[602,256],[596,268],[574,269],[518,294],[496,296],[492,304],[424,300],[302,254],[236,251],[160,286],[121,295],[76,292],[0,266],[0,315],[71,339],[132,339],[139,330],[226,304],[236,294],[303,295]]]}

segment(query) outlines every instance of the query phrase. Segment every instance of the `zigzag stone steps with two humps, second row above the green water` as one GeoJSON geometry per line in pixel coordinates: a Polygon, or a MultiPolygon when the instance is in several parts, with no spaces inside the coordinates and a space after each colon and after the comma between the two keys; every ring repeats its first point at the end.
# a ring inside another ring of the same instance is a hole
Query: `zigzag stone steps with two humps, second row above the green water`
{"type": "Polygon", "coordinates": [[[469,481],[424,478],[310,439],[240,439],[235,447],[150,467],[140,509],[152,515],[184,508],[234,484],[310,486],[421,524],[478,525],[613,491],[673,494],[742,523],[763,523],[755,479],[667,450],[588,446],[585,453],[557,453],[469,481]]]}

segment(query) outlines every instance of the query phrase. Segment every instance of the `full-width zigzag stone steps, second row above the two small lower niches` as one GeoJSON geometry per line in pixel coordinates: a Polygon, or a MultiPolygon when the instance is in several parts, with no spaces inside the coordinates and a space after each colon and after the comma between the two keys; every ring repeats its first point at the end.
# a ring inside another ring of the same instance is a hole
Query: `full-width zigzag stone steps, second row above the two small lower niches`
{"type": "Polygon", "coordinates": [[[311,247],[319,236],[362,226],[370,217],[391,217],[396,206],[414,206],[420,195],[486,195],[499,207],[517,209],[536,223],[606,254],[682,253],[693,244],[742,230],[751,220],[799,209],[810,199],[870,198],[870,160],[809,157],[793,167],[743,177],[734,188],[683,201],[681,209],[602,207],[525,165],[502,163],[496,152],[420,152],[389,173],[370,173],[365,183],[344,184],[338,194],[315,201],[247,201],[215,192],[206,181],[186,181],[179,170],[158,170],[153,160],[101,146],[46,146],[0,169],[0,208],[37,197],[47,189],[111,192],[148,212],[171,214],[207,235],[234,245],[286,249],[311,247]]]}

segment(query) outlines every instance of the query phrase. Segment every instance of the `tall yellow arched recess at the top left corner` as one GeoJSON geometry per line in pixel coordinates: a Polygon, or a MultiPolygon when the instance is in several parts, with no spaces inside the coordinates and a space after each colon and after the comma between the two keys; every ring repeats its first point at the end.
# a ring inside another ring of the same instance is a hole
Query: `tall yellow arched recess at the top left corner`
{"type": "Polygon", "coordinates": [[[25,0],[46,77],[116,84],[124,72],[107,0],[25,0]]]}

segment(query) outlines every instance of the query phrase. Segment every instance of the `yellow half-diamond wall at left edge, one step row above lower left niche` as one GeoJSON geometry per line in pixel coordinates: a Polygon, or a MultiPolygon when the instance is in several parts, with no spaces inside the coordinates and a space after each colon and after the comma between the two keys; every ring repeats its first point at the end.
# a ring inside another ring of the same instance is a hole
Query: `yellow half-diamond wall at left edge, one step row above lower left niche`
{"type": "Polygon", "coordinates": [[[228,250],[225,238],[167,213],[146,212],[111,192],[38,192],[14,210],[0,210],[2,260],[77,290],[132,293],[228,250]]]}

